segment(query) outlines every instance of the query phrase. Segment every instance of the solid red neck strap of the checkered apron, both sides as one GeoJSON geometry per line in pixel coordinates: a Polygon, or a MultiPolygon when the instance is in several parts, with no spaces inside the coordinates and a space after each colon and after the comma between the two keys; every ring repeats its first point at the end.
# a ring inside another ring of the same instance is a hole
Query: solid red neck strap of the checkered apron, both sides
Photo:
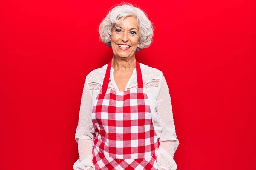
{"type": "MultiPolygon", "coordinates": [[[[106,93],[108,89],[108,83],[110,78],[110,69],[111,69],[112,59],[108,63],[108,67],[106,70],[105,78],[102,85],[102,94],[106,93]]],[[[143,88],[143,80],[142,80],[142,73],[140,69],[140,64],[136,61],[136,73],[137,73],[137,82],[138,82],[138,88],[143,88]]]]}

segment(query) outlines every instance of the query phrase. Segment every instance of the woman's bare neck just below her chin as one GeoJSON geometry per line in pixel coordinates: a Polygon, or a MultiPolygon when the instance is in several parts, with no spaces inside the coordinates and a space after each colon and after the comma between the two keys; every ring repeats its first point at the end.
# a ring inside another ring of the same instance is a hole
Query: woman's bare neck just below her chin
{"type": "Polygon", "coordinates": [[[111,67],[115,70],[125,71],[125,70],[133,70],[136,68],[136,59],[134,57],[115,57],[113,56],[111,67]]]}

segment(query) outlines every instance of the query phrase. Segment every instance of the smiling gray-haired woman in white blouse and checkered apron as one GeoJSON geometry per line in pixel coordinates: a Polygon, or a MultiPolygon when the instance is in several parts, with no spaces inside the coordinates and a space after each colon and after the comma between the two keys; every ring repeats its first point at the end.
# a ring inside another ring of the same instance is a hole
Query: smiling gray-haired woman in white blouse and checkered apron
{"type": "Polygon", "coordinates": [[[163,73],[138,63],[153,27],[139,8],[116,6],[99,26],[111,61],[87,75],[76,130],[74,170],[176,170],[171,98],[163,73]]]}

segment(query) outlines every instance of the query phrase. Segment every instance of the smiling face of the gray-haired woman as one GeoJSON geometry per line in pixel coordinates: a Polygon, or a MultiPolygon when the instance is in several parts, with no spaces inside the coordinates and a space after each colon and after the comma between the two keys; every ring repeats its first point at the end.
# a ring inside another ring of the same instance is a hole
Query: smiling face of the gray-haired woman
{"type": "MultiPolygon", "coordinates": [[[[121,21],[121,19],[119,19],[121,21]]],[[[139,26],[135,17],[126,17],[111,30],[111,47],[115,56],[135,57],[139,44],[139,26]]]]}

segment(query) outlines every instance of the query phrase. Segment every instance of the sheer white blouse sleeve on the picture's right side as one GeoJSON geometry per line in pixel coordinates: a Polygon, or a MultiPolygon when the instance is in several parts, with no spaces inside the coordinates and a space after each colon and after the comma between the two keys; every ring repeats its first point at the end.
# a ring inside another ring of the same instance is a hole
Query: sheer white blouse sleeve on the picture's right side
{"type": "Polygon", "coordinates": [[[179,145],[173,121],[171,97],[165,77],[160,80],[160,91],[157,96],[157,113],[159,115],[162,133],[160,135],[160,146],[157,156],[159,170],[176,170],[174,153],[179,145]]]}

